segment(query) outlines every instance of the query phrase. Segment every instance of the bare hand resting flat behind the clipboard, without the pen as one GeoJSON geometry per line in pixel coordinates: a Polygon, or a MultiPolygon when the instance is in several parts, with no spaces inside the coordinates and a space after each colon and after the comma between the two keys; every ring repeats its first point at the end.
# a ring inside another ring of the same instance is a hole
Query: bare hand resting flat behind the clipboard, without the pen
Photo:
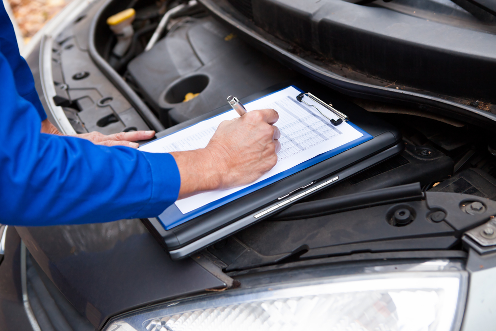
{"type": "MultiPolygon", "coordinates": [[[[41,132],[56,135],[64,135],[49,121],[41,122],[41,132]]],[[[89,140],[94,144],[106,146],[128,146],[138,148],[139,144],[132,142],[138,140],[147,140],[153,138],[155,131],[133,131],[133,132],[119,132],[114,134],[105,135],[100,132],[80,133],[73,136],[89,140]]]]}

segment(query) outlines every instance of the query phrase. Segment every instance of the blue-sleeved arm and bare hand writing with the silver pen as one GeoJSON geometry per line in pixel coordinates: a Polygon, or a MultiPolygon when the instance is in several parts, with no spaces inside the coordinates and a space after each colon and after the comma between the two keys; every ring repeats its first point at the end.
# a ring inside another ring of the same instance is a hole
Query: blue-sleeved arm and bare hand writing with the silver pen
{"type": "MultiPolygon", "coordinates": [[[[144,153],[40,133],[33,105],[17,94],[0,54],[1,222],[81,224],[155,217],[181,195],[243,185],[276,162],[272,110],[221,124],[206,148],[144,153]],[[206,178],[208,180],[203,181],[206,178]]],[[[248,116],[249,115],[249,116],[248,116]]]]}

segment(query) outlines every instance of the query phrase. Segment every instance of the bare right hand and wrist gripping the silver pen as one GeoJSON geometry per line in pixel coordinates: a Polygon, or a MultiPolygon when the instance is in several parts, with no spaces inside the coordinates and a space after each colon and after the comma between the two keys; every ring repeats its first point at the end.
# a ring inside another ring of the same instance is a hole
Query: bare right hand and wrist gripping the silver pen
{"type": "Polygon", "coordinates": [[[203,149],[171,153],[181,175],[179,197],[252,183],[277,163],[279,115],[253,110],[222,122],[203,149]]]}

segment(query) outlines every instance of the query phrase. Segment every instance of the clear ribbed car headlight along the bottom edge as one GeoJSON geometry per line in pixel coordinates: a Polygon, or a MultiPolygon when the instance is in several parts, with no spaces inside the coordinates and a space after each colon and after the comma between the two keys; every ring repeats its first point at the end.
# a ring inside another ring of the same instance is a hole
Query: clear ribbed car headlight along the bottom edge
{"type": "Polygon", "coordinates": [[[394,272],[230,290],[138,310],[105,330],[457,330],[467,278],[394,272]]]}

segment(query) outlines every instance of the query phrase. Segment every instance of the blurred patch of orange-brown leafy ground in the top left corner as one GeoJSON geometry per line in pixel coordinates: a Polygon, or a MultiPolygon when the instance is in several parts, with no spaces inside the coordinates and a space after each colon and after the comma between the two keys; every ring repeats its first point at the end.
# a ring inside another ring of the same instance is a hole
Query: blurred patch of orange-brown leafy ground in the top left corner
{"type": "Polygon", "coordinates": [[[19,39],[24,44],[69,2],[70,0],[3,0],[7,12],[8,5],[10,6],[11,15],[19,27],[19,39]]]}

